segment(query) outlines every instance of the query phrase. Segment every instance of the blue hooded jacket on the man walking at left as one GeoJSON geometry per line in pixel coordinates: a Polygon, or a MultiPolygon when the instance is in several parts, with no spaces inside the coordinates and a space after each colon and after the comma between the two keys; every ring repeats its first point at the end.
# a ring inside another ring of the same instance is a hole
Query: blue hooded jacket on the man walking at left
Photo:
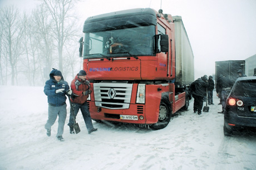
{"type": "Polygon", "coordinates": [[[56,69],[53,69],[50,73],[50,80],[47,80],[45,83],[45,88],[43,92],[47,95],[48,104],[52,106],[62,106],[66,104],[66,91],[70,89],[67,81],[64,81],[63,76],[61,76],[61,80],[59,83],[53,77],[56,69]],[[56,90],[65,89],[63,92],[59,92],[56,94],[56,90]]]}

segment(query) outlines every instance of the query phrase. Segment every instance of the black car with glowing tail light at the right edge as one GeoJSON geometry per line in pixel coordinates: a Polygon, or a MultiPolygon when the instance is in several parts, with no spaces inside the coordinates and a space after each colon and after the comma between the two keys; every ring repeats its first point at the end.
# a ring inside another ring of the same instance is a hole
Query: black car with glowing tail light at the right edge
{"type": "Polygon", "coordinates": [[[240,127],[256,127],[256,76],[238,78],[224,111],[224,135],[240,127]]]}

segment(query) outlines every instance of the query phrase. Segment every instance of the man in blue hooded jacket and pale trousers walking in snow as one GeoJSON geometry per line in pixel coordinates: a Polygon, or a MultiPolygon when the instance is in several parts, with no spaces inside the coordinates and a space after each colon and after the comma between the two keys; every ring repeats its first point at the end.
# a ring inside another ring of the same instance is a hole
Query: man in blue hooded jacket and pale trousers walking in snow
{"type": "Polygon", "coordinates": [[[48,120],[45,128],[47,136],[51,136],[51,127],[55,123],[58,116],[57,139],[64,141],[62,134],[67,117],[67,105],[65,95],[72,94],[67,81],[64,81],[61,71],[53,69],[50,73],[50,80],[45,83],[43,90],[48,98],[48,120]]]}

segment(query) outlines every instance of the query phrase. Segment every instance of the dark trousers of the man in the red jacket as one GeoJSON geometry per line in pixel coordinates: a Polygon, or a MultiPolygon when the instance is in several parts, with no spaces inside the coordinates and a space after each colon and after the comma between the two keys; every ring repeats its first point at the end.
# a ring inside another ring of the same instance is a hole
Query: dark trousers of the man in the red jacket
{"type": "MultiPolygon", "coordinates": [[[[92,125],[91,115],[90,115],[90,112],[89,112],[89,109],[88,109],[87,102],[85,102],[84,104],[72,103],[72,105],[73,105],[73,114],[74,114],[73,116],[75,117],[75,120],[76,120],[76,116],[78,114],[78,111],[80,109],[81,112],[82,112],[83,120],[85,121],[87,131],[92,130],[93,125],[92,125]]],[[[72,107],[70,109],[72,109],[72,107]]],[[[70,121],[67,124],[68,126],[72,127],[74,125],[75,122],[74,122],[73,116],[72,116],[72,112],[70,110],[70,121]]]]}

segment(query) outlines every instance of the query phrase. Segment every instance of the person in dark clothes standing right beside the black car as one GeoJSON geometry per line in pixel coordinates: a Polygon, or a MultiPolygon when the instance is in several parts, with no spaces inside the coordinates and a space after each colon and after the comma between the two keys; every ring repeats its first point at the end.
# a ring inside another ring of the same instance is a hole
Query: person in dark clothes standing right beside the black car
{"type": "Polygon", "coordinates": [[[220,77],[219,79],[219,91],[217,93],[217,96],[220,96],[220,102],[222,105],[222,113],[224,113],[224,107],[226,104],[226,99],[228,96],[228,90],[230,90],[232,87],[232,81],[225,76],[220,77]]]}

